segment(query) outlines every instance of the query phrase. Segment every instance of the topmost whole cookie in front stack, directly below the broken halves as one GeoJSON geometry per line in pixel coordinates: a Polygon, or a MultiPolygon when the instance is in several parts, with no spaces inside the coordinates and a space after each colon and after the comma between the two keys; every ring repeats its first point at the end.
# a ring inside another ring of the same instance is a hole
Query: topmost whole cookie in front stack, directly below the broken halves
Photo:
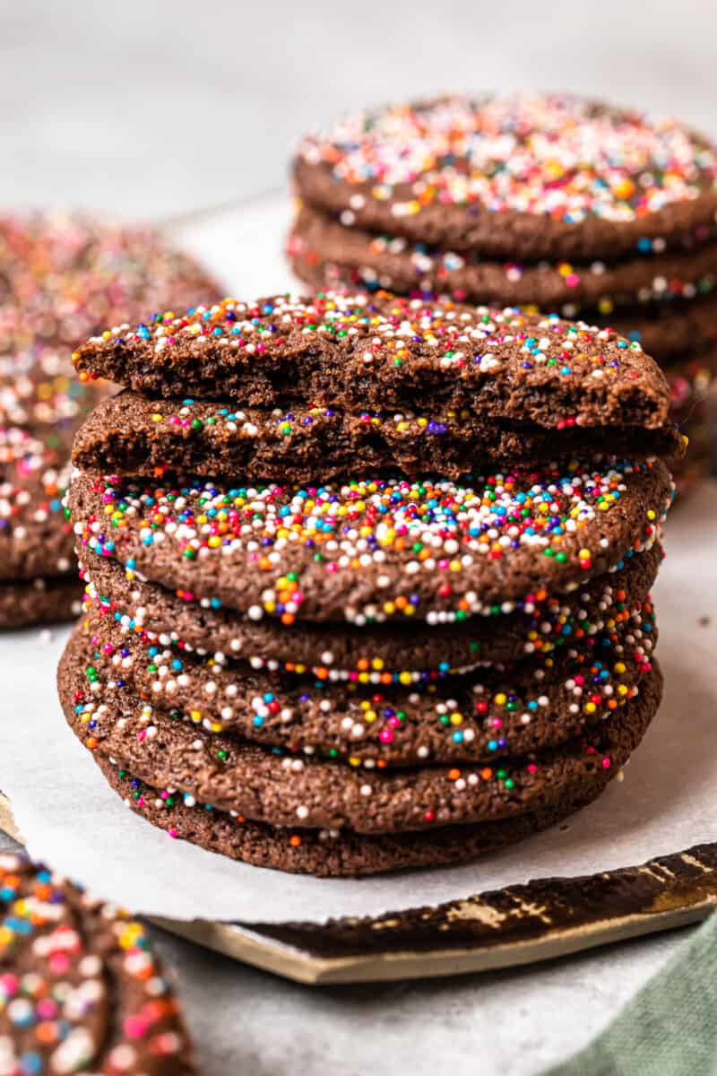
{"type": "Polygon", "coordinates": [[[664,464],[596,466],[319,489],[78,472],[67,502],[91,552],[255,619],[462,620],[579,585],[655,541],[664,464]]]}

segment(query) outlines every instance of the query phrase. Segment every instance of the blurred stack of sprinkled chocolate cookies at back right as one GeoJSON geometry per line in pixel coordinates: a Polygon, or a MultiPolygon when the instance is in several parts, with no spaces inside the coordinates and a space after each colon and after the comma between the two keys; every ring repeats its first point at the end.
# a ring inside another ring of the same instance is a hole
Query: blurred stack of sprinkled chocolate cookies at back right
{"type": "Polygon", "coordinates": [[[564,95],[397,104],[307,134],[288,242],[321,286],[557,311],[663,366],[709,472],[717,370],[717,151],[674,119],[564,95]]]}

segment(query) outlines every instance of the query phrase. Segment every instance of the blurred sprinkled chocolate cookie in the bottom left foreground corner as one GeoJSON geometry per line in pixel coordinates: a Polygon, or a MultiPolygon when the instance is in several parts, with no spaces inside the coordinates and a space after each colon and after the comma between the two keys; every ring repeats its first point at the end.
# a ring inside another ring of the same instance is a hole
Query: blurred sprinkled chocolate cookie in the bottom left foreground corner
{"type": "Polygon", "coordinates": [[[196,1072],[180,1004],[144,928],[0,852],[0,1072],[196,1072]]]}

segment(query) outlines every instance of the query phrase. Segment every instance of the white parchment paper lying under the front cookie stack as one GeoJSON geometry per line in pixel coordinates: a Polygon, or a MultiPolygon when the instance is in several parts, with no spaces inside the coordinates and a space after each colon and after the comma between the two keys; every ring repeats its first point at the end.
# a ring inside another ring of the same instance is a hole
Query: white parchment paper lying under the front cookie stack
{"type": "MultiPolygon", "coordinates": [[[[277,256],[285,222],[285,203],[273,201],[248,218],[244,210],[185,229],[183,239],[205,258],[214,252],[235,294],[266,294],[290,286],[277,256]]],[[[476,864],[315,879],[172,840],[123,805],[66,726],[55,668],[68,629],[51,639],[39,629],[0,637],[0,789],[32,855],[135,911],[177,919],[320,922],[375,915],[529,878],[612,869],[717,839],[716,530],[717,483],[668,522],[668,558],[655,590],[665,695],[625,780],[613,781],[567,827],[476,864]]]]}

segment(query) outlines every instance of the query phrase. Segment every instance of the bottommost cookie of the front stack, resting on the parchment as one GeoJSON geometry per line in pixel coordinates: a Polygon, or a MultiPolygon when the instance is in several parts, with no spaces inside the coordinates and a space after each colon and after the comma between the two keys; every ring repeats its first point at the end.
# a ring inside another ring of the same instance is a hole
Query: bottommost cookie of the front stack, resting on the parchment
{"type": "Polygon", "coordinates": [[[127,806],[171,837],[254,866],[324,878],[467,863],[546,830],[585,806],[584,801],[564,802],[500,822],[371,836],[348,830],[277,829],[192,805],[190,797],[152,788],[102,755],[96,754],[95,761],[127,806]]]}

